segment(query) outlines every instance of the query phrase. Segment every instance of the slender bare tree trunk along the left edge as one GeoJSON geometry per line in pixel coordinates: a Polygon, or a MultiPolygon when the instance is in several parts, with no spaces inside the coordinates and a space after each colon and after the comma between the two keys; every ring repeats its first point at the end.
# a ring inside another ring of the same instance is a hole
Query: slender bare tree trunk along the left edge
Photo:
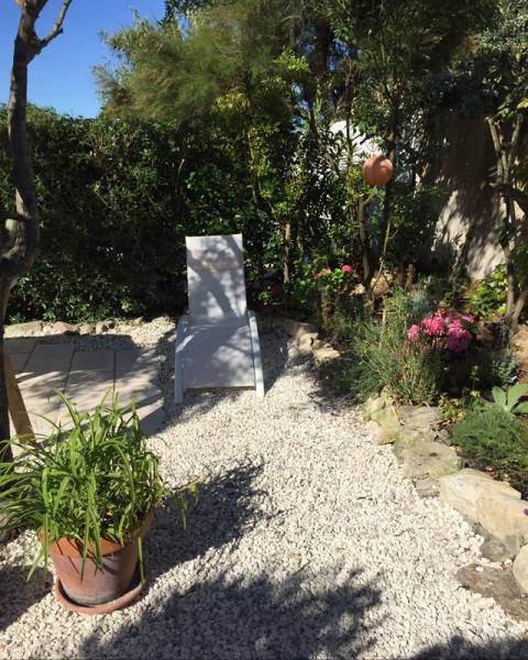
{"type": "MultiPolygon", "coordinates": [[[[16,215],[6,221],[0,233],[0,441],[10,437],[8,395],[3,366],[4,321],[11,287],[31,268],[38,250],[38,206],[26,127],[28,68],[31,62],[63,32],[72,4],[64,0],[55,23],[44,37],[36,23],[48,0],[15,0],[21,15],[14,40],[11,86],[8,101],[8,134],[13,164],[16,215]]],[[[4,447],[0,452],[9,458],[4,447]]]]}

